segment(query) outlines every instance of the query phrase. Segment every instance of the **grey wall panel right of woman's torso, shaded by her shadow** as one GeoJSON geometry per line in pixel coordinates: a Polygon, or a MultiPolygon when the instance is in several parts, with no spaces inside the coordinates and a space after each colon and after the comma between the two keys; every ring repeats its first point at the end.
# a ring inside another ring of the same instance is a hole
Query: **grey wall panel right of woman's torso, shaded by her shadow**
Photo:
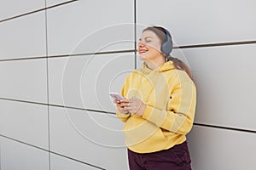
{"type": "Polygon", "coordinates": [[[172,55],[188,59],[194,73],[195,122],[256,130],[256,45],[188,48],[172,55]]]}

